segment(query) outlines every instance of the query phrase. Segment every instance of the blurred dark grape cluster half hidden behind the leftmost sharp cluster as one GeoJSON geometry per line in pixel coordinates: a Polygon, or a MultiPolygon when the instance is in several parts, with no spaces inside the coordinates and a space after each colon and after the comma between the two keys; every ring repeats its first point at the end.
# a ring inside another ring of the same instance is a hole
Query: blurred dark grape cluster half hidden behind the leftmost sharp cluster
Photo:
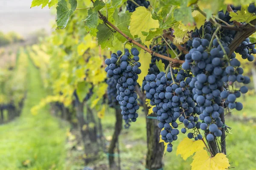
{"type": "Polygon", "coordinates": [[[107,84],[108,84],[108,89],[107,89],[108,104],[111,108],[114,108],[117,104],[117,100],[116,100],[116,96],[117,96],[116,84],[117,84],[117,82],[112,77],[110,79],[107,79],[107,84]]]}

